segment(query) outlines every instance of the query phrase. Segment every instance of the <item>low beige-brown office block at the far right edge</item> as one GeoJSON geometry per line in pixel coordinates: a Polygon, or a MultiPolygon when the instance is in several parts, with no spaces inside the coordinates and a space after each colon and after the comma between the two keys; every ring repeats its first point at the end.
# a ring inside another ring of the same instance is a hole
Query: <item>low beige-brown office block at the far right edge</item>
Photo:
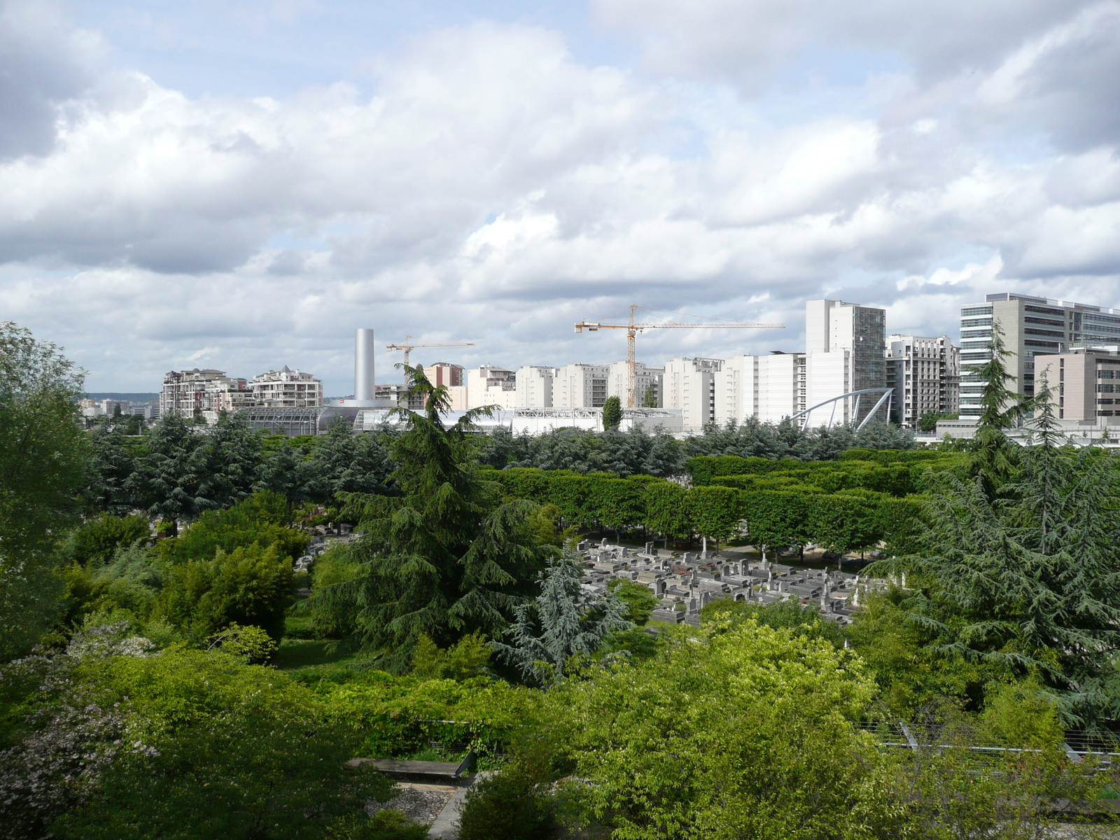
{"type": "Polygon", "coordinates": [[[1046,377],[1058,420],[1120,422],[1120,346],[1074,347],[1036,355],[1035,383],[1046,377]]]}

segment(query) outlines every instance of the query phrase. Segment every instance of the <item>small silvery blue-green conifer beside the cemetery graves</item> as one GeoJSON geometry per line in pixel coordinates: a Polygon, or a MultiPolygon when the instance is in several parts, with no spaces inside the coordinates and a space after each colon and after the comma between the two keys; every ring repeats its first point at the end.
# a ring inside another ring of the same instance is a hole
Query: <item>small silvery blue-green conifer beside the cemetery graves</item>
{"type": "Polygon", "coordinates": [[[626,620],[629,607],[614,592],[582,597],[582,575],[579,559],[569,551],[550,560],[541,594],[517,606],[506,632],[513,644],[494,643],[498,656],[526,681],[548,684],[562,679],[572,656],[590,656],[610,633],[634,626],[626,620]]]}

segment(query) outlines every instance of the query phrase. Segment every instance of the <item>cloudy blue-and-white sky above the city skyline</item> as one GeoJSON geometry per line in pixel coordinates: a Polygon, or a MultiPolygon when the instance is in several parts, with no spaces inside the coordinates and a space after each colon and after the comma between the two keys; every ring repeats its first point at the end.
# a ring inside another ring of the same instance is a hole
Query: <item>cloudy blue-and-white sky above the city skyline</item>
{"type": "Polygon", "coordinates": [[[1120,306],[1118,78],[1116,0],[0,0],[0,318],[92,391],[345,394],[355,327],[514,366],[623,357],[571,325],[632,302],[787,325],[661,363],[797,349],[819,297],[1120,306]]]}

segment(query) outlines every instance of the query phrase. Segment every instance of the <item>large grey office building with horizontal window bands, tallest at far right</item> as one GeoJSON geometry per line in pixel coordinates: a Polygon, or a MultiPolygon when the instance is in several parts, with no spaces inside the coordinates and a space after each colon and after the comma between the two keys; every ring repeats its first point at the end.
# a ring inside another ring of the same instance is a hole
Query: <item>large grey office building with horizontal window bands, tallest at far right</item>
{"type": "Polygon", "coordinates": [[[1035,393],[1035,356],[1058,355],[1072,345],[1108,344],[1120,338],[1120,309],[999,292],[982,304],[961,307],[961,421],[980,417],[980,379],[969,372],[991,357],[992,324],[1004,330],[1014,381],[1008,388],[1026,396],[1035,393]]]}

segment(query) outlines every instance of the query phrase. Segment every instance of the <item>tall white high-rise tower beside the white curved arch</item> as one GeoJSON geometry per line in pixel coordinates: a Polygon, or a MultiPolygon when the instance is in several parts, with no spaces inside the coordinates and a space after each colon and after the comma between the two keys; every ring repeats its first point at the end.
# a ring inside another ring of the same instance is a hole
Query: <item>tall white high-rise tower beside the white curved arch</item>
{"type": "MultiPolygon", "coordinates": [[[[806,407],[852,391],[887,386],[886,320],[884,309],[840,300],[805,302],[806,407]]],[[[860,417],[853,417],[856,398],[825,411],[833,424],[858,422],[877,401],[878,395],[865,394],[860,417]]],[[[886,407],[878,416],[887,419],[886,407]]],[[[812,422],[827,421],[821,414],[812,422]]]]}

